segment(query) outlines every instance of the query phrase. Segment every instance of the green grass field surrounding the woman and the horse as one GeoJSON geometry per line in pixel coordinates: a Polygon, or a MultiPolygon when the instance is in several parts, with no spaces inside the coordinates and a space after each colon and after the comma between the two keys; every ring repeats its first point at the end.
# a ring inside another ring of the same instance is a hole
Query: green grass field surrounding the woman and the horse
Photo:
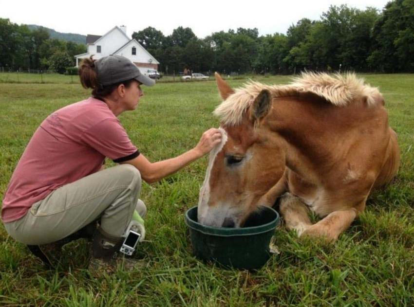
{"type": "MultiPolygon", "coordinates": [[[[197,203],[206,158],[154,185],[143,185],[149,212],[141,267],[99,280],[86,270],[83,241],[66,247],[58,270],[46,270],[0,226],[0,306],[413,306],[414,75],[364,75],[384,94],[399,136],[397,178],[376,191],[367,209],[334,245],[299,240],[283,227],[280,254],[259,271],[222,270],[191,255],[184,213],[197,203]]],[[[0,74],[1,78],[1,74],[0,74]]],[[[288,77],[257,78],[287,83],[288,77]]],[[[230,80],[240,86],[245,80],[230,80]]],[[[0,198],[26,144],[52,111],[89,95],[79,84],[0,83],[0,198]]],[[[194,146],[220,103],[214,81],[145,88],[137,110],[120,120],[151,161],[194,146]]],[[[111,165],[111,163],[110,163],[111,165]]]]}

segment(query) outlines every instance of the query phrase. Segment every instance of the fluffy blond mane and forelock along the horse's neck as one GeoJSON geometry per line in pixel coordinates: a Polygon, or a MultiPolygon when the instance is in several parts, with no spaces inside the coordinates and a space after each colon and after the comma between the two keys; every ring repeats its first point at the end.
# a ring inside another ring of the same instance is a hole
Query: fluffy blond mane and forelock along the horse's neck
{"type": "Polygon", "coordinates": [[[375,97],[379,95],[377,88],[365,84],[364,79],[357,78],[355,73],[341,75],[302,72],[300,77],[293,78],[293,82],[288,85],[266,85],[250,80],[244,87],[236,89],[228,96],[214,110],[214,114],[225,125],[238,125],[245,111],[262,90],[269,90],[273,97],[297,96],[310,92],[338,107],[345,107],[358,97],[366,97],[368,106],[372,106],[376,104],[375,97]]]}

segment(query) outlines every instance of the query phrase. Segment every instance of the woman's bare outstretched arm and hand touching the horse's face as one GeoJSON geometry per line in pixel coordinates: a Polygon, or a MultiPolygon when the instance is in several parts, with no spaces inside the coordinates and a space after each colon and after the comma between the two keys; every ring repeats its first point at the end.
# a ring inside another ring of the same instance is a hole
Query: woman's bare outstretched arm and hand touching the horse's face
{"type": "Polygon", "coordinates": [[[178,157],[151,163],[143,154],[140,154],[132,160],[122,162],[122,164],[132,164],[139,170],[143,180],[148,183],[156,182],[203,157],[221,142],[221,138],[222,134],[220,130],[211,128],[203,133],[200,141],[194,148],[178,157]]]}

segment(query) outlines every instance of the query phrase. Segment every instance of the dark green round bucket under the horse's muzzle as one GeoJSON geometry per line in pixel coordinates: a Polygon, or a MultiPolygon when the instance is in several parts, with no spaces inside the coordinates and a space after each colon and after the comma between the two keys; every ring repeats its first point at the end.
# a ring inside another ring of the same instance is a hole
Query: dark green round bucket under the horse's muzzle
{"type": "Polygon", "coordinates": [[[243,228],[205,226],[197,222],[197,206],[188,209],[189,227],[194,255],[227,268],[260,269],[270,258],[270,239],[279,224],[279,214],[263,207],[252,214],[243,228]]]}

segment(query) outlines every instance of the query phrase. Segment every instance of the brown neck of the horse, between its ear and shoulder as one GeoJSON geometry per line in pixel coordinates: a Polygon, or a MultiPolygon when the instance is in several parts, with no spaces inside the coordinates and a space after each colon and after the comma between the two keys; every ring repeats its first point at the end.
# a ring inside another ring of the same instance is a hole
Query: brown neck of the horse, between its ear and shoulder
{"type": "Polygon", "coordinates": [[[277,99],[267,122],[282,138],[287,167],[316,181],[316,171],[334,161],[346,142],[354,112],[312,99],[277,99]]]}

